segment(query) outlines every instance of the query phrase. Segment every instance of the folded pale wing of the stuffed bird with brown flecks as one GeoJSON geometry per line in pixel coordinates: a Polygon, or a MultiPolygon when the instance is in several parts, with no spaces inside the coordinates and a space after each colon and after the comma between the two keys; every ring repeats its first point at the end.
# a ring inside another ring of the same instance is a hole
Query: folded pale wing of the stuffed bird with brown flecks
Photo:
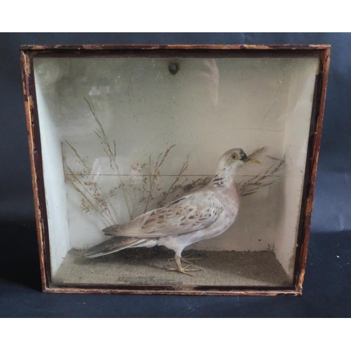
{"type": "Polygon", "coordinates": [[[166,237],[201,230],[214,223],[223,204],[211,190],[193,192],[164,207],[149,211],[123,225],[102,230],[123,237],[166,237]]]}

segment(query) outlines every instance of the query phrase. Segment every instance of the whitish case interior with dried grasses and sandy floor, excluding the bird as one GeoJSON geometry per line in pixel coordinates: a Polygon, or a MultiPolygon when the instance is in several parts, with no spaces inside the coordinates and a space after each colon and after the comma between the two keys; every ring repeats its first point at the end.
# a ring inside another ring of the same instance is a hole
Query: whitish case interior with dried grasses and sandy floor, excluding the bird
{"type": "Polygon", "coordinates": [[[317,58],[34,58],[53,282],[291,285],[317,67],[317,58]],[[163,246],[84,258],[110,238],[105,227],[208,185],[233,148],[260,164],[238,170],[234,224],[183,252],[201,258],[182,263],[204,269],[195,277],[171,271],[163,246]]]}

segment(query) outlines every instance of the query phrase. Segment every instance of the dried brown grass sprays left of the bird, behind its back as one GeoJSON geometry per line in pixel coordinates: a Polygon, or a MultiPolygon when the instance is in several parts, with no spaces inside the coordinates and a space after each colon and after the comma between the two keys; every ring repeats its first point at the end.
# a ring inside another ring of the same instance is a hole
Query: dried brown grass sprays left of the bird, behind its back
{"type": "Polygon", "coordinates": [[[108,192],[108,196],[104,195],[100,185],[95,180],[95,176],[93,176],[92,169],[88,167],[86,161],[77,150],[65,140],[65,144],[77,157],[76,160],[80,168],[79,171],[77,171],[69,166],[62,145],[62,161],[65,168],[65,177],[74,190],[81,195],[81,210],[86,213],[93,213],[95,211],[99,213],[108,225],[112,225],[115,224],[116,221],[119,223],[122,222],[110,201],[111,198],[117,197],[118,190],[121,190],[123,194],[124,203],[130,219],[133,219],[136,214],[141,214],[137,213],[140,206],[143,206],[143,213],[145,213],[150,211],[152,207],[159,205],[161,201],[168,201],[168,199],[173,200],[177,190],[181,189],[182,185],[187,181],[187,177],[183,176],[183,173],[187,169],[188,159],[181,166],[176,180],[174,180],[166,190],[164,190],[162,183],[161,166],[164,165],[169,153],[176,145],[172,145],[168,147],[165,152],[161,152],[156,160],[154,160],[150,154],[147,162],[131,165],[131,176],[128,176],[127,180],[123,180],[117,164],[116,142],[115,140],[111,142],[107,137],[98,115],[95,113],[93,105],[91,105],[88,100],[86,100],[86,103],[97,124],[94,133],[100,139],[102,150],[110,160],[110,168],[117,175],[118,184],[108,192]],[[155,203],[155,201],[157,201],[157,203],[155,203]]]}

